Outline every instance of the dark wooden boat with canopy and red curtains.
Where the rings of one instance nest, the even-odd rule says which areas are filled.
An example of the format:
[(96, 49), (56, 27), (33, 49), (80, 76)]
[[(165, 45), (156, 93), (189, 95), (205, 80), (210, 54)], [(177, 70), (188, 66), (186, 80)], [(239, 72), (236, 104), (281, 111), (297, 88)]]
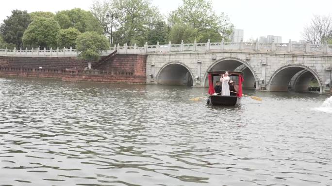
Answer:
[(243, 72), (234, 72), (228, 71), (228, 74), (231, 79), (238, 79), (239, 90), (237, 94), (231, 94), (231, 96), (221, 96), (214, 95), (214, 78), (220, 78), (222, 74), (225, 74), (227, 71), (208, 71), (208, 80), (209, 80), (209, 97), (207, 99), (207, 104), (210, 105), (224, 105), (224, 106), (235, 106), (240, 104), (242, 96), (242, 82), (243, 82)]

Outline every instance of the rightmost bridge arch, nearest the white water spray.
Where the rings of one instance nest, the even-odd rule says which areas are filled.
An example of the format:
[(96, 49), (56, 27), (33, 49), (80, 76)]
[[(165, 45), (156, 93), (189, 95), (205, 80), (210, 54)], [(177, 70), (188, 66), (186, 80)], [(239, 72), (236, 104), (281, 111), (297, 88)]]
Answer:
[[(295, 77), (296, 76), (296, 77)], [(293, 78), (294, 77), (294, 78)], [(320, 93), (323, 92), (323, 84), (318, 74), (308, 66), (302, 64), (288, 64), (274, 72), (267, 84), (268, 90), (286, 91), (291, 83), (292, 89), (296, 91), (306, 91), (310, 81), (315, 78), (319, 84)]]

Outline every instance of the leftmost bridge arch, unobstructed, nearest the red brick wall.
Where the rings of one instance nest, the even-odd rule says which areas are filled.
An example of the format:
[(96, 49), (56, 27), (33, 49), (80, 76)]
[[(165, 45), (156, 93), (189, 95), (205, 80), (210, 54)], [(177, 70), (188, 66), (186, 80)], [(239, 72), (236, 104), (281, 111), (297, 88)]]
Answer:
[(192, 85), (195, 86), (193, 72), (188, 66), (180, 62), (166, 63), (156, 75), (161, 85)]

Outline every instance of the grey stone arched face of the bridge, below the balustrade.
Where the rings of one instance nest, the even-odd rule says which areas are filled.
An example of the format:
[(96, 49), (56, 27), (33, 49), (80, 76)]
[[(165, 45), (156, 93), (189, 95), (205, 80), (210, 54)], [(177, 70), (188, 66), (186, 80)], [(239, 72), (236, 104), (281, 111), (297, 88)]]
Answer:
[(306, 91), (309, 83), (316, 80), (322, 93), (330, 91), (331, 66), (332, 56), (324, 54), (246, 51), (153, 53), (147, 57), (147, 83), (207, 86), (208, 71), (224, 70), (244, 72), (243, 86), (247, 89)]

